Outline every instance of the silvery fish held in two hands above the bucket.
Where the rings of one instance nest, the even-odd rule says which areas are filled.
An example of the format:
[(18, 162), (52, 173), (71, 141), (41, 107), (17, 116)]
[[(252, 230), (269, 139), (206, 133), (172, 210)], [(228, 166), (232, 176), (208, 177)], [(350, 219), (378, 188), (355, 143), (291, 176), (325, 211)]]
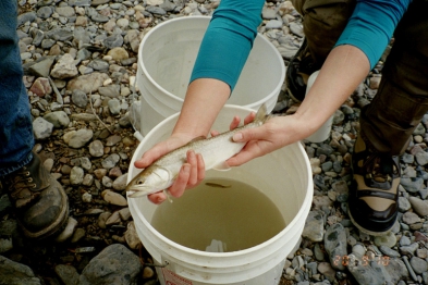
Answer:
[(127, 197), (144, 197), (161, 190), (169, 197), (167, 189), (173, 184), (181, 166), (186, 162), (188, 150), (194, 150), (195, 153), (201, 154), (206, 171), (210, 169), (219, 171), (230, 170), (225, 161), (239, 153), (246, 144), (233, 141), (233, 135), (242, 129), (261, 126), (270, 117), (271, 115), (267, 114), (266, 106), (262, 104), (253, 122), (217, 136), (193, 139), (188, 144), (163, 154), (149, 166), (143, 169), (126, 185)]

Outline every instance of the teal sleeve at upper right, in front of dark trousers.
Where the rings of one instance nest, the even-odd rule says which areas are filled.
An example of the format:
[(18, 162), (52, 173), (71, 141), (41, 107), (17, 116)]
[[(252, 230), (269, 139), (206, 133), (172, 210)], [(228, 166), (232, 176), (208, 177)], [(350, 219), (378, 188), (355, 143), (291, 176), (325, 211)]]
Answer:
[(359, 0), (335, 46), (352, 45), (368, 58), (372, 69), (382, 55), (412, 0)]

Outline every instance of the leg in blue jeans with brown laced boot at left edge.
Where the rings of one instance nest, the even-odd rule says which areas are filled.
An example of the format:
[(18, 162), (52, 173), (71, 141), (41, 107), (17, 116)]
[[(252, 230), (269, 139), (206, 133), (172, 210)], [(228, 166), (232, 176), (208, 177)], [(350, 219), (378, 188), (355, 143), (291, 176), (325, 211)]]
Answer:
[(62, 186), (44, 168), (34, 146), (28, 97), (16, 37), (16, 0), (0, 1), (0, 185), (24, 234), (44, 238), (68, 221)]

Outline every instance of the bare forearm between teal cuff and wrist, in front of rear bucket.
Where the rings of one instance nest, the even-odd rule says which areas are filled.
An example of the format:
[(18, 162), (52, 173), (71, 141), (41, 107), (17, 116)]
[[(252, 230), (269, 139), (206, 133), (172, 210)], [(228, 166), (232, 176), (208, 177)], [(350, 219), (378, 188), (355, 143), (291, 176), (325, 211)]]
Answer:
[(229, 85), (218, 79), (199, 78), (192, 82), (172, 134), (189, 138), (207, 136), (230, 92)]

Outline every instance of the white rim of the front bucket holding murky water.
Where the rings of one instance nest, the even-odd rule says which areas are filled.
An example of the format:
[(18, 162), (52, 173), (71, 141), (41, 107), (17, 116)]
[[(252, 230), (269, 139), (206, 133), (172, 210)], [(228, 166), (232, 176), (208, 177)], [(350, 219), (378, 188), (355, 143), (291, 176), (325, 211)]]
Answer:
[[(230, 108), (230, 109), (237, 109), (237, 110), (243, 110), (243, 111), (255, 111), (254, 109), (247, 108), (247, 107), (242, 107), (242, 106), (236, 106), (236, 104), (224, 104), (224, 108)], [(164, 124), (168, 124), (169, 122), (176, 120), (176, 117), (180, 115), (180, 112), (164, 119), (162, 121), (162, 123), (158, 124), (157, 126), (155, 126), (145, 137), (144, 139), (140, 141), (139, 146), (137, 147), (137, 149), (144, 145), (144, 142), (146, 140), (150, 139), (150, 136), (155, 133), (157, 133), (160, 128), (163, 128)], [(186, 253), (191, 253), (194, 256), (198, 256), (198, 257), (209, 257), (209, 258), (235, 258), (235, 257), (241, 257), (241, 256), (246, 256), (246, 255), (250, 255), (254, 251), (258, 251), (261, 248), (267, 247), (268, 245), (271, 245), (273, 243), (276, 243), (278, 239), (280, 239), (282, 236), (284, 236), (285, 234), (288, 234), (290, 231), (292, 231), (292, 228), (295, 227), (295, 224), (298, 222), (304, 222), (306, 221), (306, 216), (307, 213), (310, 210), (310, 206), (311, 206), (311, 199), (314, 196), (314, 182), (311, 179), (310, 173), (311, 173), (311, 169), (310, 169), (310, 163), (309, 163), (309, 159), (305, 153), (305, 150), (302, 146), (302, 144), (299, 141), (296, 141), (294, 144), (289, 145), (290, 147), (294, 147), (297, 148), (297, 150), (299, 151), (299, 153), (303, 156), (304, 162), (305, 162), (305, 168), (306, 168), (306, 173), (308, 175), (308, 184), (307, 184), (307, 189), (306, 189), (306, 195), (302, 201), (302, 205), (297, 211), (297, 213), (295, 214), (295, 216), (291, 220), (291, 222), (281, 231), (279, 232), (277, 235), (274, 235), (273, 237), (269, 238), (268, 240), (258, 244), (254, 247), (250, 248), (246, 248), (243, 250), (237, 250), (237, 251), (230, 251), (230, 252), (207, 252), (207, 251), (201, 251), (201, 250), (197, 250), (197, 249), (193, 249), (193, 248), (188, 248), (185, 246), (182, 246), (169, 238), (167, 238), (166, 236), (163, 236), (161, 233), (159, 233), (154, 226), (151, 226), (151, 224), (147, 221), (147, 219), (143, 215), (143, 213), (140, 211), (135, 211), (136, 214), (138, 215), (138, 219), (140, 222), (143, 222), (150, 231), (151, 233), (159, 238), (160, 240), (162, 240), (162, 243), (164, 243), (166, 245), (175, 248), (178, 250), (182, 250), (185, 251)], [(137, 151), (135, 150), (134, 153), (137, 153)], [(131, 165), (132, 168), (134, 166), (134, 162), (135, 162), (135, 156), (133, 156), (132, 160), (131, 160)], [(127, 176), (127, 183), (132, 179), (133, 177), (131, 175)], [(127, 196), (127, 195), (126, 195)], [(137, 198), (140, 199), (140, 198)], [(146, 198), (147, 199), (147, 198)], [(138, 209), (138, 207), (136, 207), (135, 198), (129, 198), (129, 206), (133, 207), (134, 209)], [(302, 218), (305, 218), (304, 220)], [(134, 219), (135, 220), (135, 219)]]

